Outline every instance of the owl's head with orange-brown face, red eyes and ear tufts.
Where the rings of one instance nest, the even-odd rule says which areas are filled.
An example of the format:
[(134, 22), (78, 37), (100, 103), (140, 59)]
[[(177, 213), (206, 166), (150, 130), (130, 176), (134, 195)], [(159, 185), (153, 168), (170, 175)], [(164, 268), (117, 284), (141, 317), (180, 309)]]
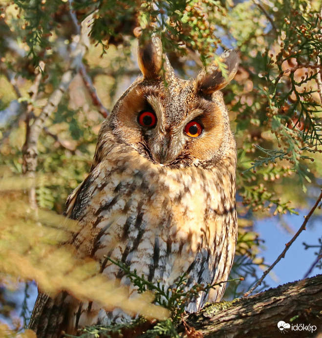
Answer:
[(229, 156), (232, 149), (236, 152), (220, 89), (235, 76), (238, 56), (229, 50), (220, 57), (228, 77), (213, 62), (195, 78), (182, 80), (175, 76), (158, 38), (139, 44), (143, 76), (116, 103), (99, 142), (104, 134), (112, 134), (114, 142), (170, 168), (209, 166)]

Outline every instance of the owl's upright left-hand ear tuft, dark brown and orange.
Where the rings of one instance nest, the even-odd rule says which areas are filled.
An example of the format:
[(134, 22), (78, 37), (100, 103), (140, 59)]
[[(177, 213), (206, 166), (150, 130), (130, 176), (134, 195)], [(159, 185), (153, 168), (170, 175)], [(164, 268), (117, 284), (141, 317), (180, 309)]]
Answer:
[(139, 68), (146, 79), (160, 78), (162, 69), (162, 43), (157, 37), (139, 41), (137, 61)]

